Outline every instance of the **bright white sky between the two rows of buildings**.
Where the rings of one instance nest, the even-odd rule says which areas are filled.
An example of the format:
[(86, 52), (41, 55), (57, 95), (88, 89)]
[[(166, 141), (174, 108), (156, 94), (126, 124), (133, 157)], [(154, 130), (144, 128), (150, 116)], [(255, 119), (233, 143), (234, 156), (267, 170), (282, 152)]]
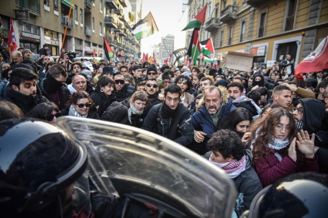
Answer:
[(152, 12), (159, 32), (141, 39), (141, 53), (153, 54), (153, 44), (158, 44), (161, 37), (168, 34), (175, 36), (174, 50), (185, 47), (186, 31), (181, 31), (187, 25), (186, 10), (182, 14), (182, 0), (143, 0), (141, 18)]

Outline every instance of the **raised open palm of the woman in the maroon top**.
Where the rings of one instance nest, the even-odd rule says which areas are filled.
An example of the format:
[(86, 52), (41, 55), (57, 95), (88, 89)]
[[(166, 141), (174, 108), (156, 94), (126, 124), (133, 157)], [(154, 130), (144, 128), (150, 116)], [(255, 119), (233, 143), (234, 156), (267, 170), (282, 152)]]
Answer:
[(310, 139), (308, 131), (301, 131), (300, 133), (297, 133), (298, 140), (297, 148), (302, 152), (305, 157), (307, 158), (313, 158), (314, 157), (314, 139), (315, 134), (312, 134), (312, 138)]

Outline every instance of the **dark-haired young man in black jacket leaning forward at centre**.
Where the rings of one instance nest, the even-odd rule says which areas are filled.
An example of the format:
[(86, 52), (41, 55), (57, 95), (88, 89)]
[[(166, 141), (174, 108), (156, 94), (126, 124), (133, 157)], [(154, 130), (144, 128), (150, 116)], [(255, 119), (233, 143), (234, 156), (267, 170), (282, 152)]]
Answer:
[(176, 84), (164, 90), (165, 101), (152, 107), (142, 129), (188, 146), (193, 139), (193, 127), (188, 109), (179, 103), (181, 88)]

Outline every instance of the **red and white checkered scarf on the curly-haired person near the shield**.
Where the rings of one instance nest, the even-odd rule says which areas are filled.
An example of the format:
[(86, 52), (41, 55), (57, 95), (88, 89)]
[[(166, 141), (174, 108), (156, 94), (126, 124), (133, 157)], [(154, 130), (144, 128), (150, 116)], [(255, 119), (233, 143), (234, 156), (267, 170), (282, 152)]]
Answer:
[(209, 158), (209, 161), (211, 163), (214, 163), (218, 167), (224, 169), (224, 171), (226, 171), (226, 173), (228, 174), (228, 176), (231, 179), (239, 176), (245, 170), (245, 167), (246, 167), (246, 156), (245, 155), (242, 156), (242, 158), (239, 161), (233, 159), (230, 162), (217, 163), (217, 162), (212, 161), (211, 157)]

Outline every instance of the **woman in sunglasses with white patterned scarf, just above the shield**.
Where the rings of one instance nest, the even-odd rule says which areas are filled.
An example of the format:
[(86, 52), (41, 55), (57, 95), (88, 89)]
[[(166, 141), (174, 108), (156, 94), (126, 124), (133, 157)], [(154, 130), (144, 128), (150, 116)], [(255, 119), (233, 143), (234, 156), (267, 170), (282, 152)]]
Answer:
[(97, 108), (86, 91), (74, 92), (67, 101), (66, 108), (60, 112), (62, 115), (99, 119)]

